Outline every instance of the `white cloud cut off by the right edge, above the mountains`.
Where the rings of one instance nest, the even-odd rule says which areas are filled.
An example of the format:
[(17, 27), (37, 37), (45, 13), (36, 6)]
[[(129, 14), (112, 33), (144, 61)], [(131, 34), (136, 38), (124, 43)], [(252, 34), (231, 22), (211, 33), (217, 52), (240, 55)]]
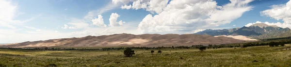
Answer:
[(263, 16), (272, 17), (276, 20), (282, 19), (284, 23), (291, 24), (291, 0), (286, 4), (273, 5), (271, 9), (260, 13)]

